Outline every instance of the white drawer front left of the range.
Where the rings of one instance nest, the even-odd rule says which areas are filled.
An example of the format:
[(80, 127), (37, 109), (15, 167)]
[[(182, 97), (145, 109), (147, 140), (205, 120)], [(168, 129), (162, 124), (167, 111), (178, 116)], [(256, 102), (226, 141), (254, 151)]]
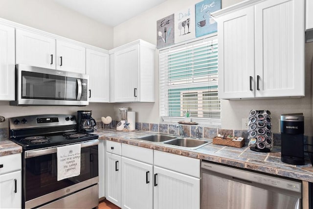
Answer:
[(0, 174), (21, 170), (22, 169), (21, 153), (1, 156), (0, 165), (1, 165)]

